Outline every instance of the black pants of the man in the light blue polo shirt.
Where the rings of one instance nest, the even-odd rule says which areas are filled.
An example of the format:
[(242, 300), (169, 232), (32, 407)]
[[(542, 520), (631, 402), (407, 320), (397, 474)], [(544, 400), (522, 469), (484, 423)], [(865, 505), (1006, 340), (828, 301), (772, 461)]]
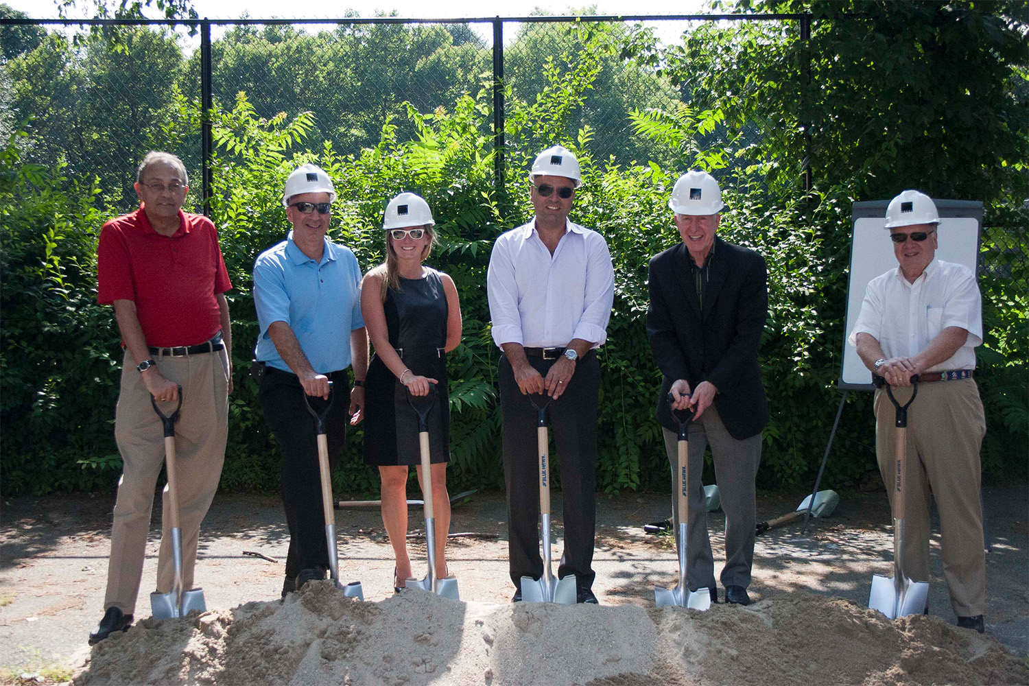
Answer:
[[(329, 471), (346, 441), (350, 382), (347, 371), (327, 374), (332, 382), (332, 405), (325, 419), (328, 434)], [(295, 374), (267, 367), (260, 382), (260, 404), (282, 453), (282, 505), (289, 527), (286, 576), (303, 569), (328, 568), (325, 515), (322, 512), (321, 475), (318, 470), (318, 439), (315, 418), (304, 403), (304, 387)], [(309, 398), (311, 406), (324, 411), (321, 398)]]

